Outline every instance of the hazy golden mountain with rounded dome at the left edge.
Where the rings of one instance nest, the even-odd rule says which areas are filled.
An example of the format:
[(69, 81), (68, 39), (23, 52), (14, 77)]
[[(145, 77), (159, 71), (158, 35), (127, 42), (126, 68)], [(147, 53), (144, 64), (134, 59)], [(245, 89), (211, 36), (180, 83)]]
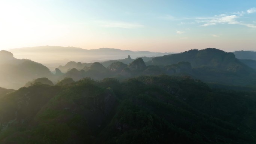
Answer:
[(0, 51), (0, 86), (18, 89), (39, 77), (52, 77), (49, 68), (29, 59), (16, 59), (11, 52)]

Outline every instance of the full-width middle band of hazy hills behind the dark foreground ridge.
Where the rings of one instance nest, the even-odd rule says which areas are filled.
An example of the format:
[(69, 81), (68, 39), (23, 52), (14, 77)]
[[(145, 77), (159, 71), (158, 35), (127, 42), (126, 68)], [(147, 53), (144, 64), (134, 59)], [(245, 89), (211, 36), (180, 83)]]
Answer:
[[(189, 50), (183, 53), (152, 58), (145, 62), (142, 58), (128, 58), (81, 63), (70, 61), (56, 68), (55, 75), (44, 65), (28, 59), (16, 59), (12, 53), (1, 51), (0, 82), (4, 88), (18, 89), (40, 77), (46, 77), (53, 83), (65, 77), (77, 81), (84, 77), (102, 80), (115, 77), (119, 80), (143, 75), (189, 75), (204, 82), (226, 85), (256, 85), (255, 63), (252, 60), (240, 60), (233, 53), (208, 48)], [(108, 67), (104, 67), (108, 65)]]

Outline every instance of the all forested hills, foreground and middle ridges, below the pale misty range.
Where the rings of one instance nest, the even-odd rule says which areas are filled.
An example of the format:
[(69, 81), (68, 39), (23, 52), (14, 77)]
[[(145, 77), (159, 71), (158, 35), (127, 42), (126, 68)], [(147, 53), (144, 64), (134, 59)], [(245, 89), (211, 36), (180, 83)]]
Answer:
[(23, 82), (0, 88), (1, 144), (256, 142), (256, 72), (234, 53), (71, 61), (55, 73), (0, 55), (0, 80)]

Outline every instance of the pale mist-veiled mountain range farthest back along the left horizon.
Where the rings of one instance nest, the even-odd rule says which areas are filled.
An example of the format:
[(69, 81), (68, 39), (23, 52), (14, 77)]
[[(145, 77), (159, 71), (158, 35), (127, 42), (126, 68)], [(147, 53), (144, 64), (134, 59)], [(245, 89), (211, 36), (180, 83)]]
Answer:
[(82, 49), (75, 47), (61, 47), (61, 46), (38, 46), (31, 48), (10, 49), (16, 58), (28, 58), (42, 64), (53, 63), (64, 64), (67, 59), (71, 61), (90, 62), (90, 61), (104, 61), (107, 59), (123, 59), (130, 55), (132, 58), (141, 56), (163, 56), (171, 53), (149, 52), (149, 51), (131, 51), (111, 48), (100, 49)]

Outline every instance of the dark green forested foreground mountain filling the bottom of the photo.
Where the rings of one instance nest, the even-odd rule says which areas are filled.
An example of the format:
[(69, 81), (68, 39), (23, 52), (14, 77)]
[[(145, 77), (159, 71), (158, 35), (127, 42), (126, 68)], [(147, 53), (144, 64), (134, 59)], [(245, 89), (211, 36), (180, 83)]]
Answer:
[(255, 94), (188, 76), (35, 83), (0, 99), (0, 143), (252, 144)]

